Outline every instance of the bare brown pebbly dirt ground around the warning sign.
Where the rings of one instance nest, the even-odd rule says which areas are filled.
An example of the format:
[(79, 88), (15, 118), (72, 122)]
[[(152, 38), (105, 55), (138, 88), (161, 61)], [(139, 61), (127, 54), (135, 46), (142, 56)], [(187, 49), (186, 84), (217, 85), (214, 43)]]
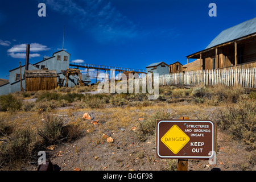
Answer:
[[(179, 105), (184, 105), (184, 103)], [(125, 110), (123, 109), (124, 112)], [(199, 111), (202, 110), (204, 108)], [(66, 110), (60, 109), (60, 111), (61, 114), (65, 114)], [(74, 111), (73, 115), (82, 117), (82, 114), (87, 111), (86, 109)], [(114, 110), (110, 111), (114, 112)], [(61, 171), (73, 171), (77, 168), (82, 171), (159, 171), (176, 169), (177, 159), (156, 158), (155, 136), (148, 136), (145, 141), (141, 141), (136, 132), (131, 130), (132, 127), (138, 126), (136, 123), (141, 116), (139, 112), (138, 109), (127, 111), (127, 113), (133, 113), (131, 116), (127, 114), (127, 125), (112, 126), (108, 125), (109, 119), (100, 119), (97, 125), (91, 124), (90, 129), (74, 142), (47, 147), (47, 156), (55, 164), (56, 170)], [(151, 113), (152, 111), (148, 110), (148, 112)], [(102, 110), (89, 110), (89, 114), (95, 120), (101, 118)], [(84, 122), (90, 124), (90, 121), (85, 120)], [(217, 164), (209, 165), (208, 160), (188, 160), (188, 170), (210, 171), (217, 168), (221, 171), (254, 171), (256, 169), (254, 165), (255, 150), (250, 151), (250, 148), (242, 141), (231, 139), (225, 131), (218, 130), (217, 133)], [(103, 134), (112, 137), (114, 142), (106, 142), (106, 139), (102, 138)], [(34, 164), (26, 169), (36, 170), (37, 168), (38, 166)]]

